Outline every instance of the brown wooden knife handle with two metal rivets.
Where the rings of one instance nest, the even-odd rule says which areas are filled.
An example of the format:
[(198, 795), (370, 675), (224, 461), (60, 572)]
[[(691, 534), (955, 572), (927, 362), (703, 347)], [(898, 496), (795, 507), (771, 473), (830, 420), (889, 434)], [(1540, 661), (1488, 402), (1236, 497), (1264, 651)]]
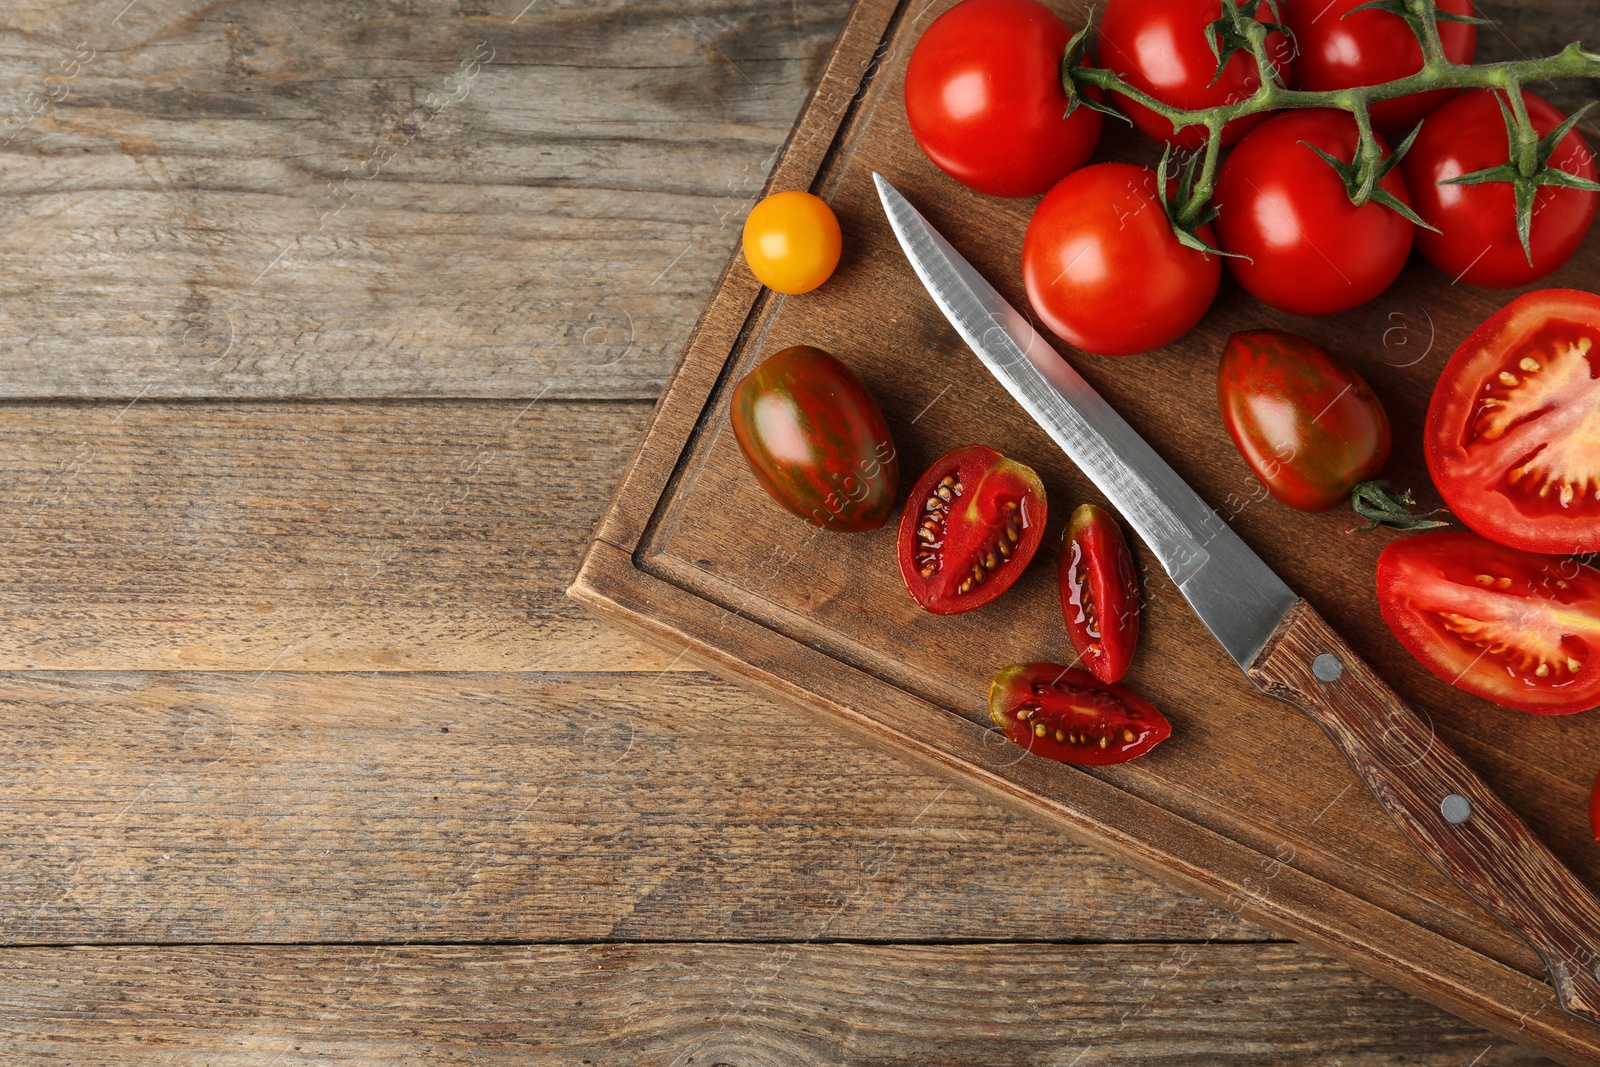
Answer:
[(1310, 605), (1245, 673), (1317, 720), (1422, 854), (1538, 950), (1562, 1006), (1600, 1022), (1600, 901)]

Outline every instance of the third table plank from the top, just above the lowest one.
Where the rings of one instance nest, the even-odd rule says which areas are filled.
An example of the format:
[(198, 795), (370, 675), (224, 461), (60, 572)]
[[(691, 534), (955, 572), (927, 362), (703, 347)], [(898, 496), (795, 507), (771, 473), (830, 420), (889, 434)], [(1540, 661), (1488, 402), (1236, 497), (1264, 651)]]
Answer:
[(698, 673), (0, 673), (0, 713), (11, 945), (1266, 936)]

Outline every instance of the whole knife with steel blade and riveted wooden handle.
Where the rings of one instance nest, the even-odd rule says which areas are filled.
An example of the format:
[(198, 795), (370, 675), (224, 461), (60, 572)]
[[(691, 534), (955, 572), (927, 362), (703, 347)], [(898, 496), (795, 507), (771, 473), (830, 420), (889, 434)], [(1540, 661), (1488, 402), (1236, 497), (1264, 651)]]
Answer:
[(1416, 848), (1533, 945), (1562, 1008), (1600, 1022), (1600, 901), (1022, 314), (872, 178), (933, 302), (1144, 537), (1245, 677), (1310, 715)]

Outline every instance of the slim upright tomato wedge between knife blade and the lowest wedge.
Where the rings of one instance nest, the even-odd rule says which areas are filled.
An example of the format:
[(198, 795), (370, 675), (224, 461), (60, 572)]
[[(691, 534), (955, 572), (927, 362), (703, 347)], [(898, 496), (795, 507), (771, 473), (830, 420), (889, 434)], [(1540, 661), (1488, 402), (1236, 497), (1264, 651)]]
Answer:
[(1120, 681), (1139, 643), (1139, 576), (1117, 520), (1082, 504), (1061, 542), (1061, 613), (1083, 665)]

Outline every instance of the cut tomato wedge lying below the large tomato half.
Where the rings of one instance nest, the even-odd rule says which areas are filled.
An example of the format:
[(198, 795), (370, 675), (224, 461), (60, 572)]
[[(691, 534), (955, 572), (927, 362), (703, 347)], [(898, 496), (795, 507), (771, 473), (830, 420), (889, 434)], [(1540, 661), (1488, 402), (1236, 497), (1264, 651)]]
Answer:
[(1467, 533), (1418, 534), (1378, 557), (1378, 606), (1435, 675), (1518, 712), (1600, 704), (1600, 571)]

